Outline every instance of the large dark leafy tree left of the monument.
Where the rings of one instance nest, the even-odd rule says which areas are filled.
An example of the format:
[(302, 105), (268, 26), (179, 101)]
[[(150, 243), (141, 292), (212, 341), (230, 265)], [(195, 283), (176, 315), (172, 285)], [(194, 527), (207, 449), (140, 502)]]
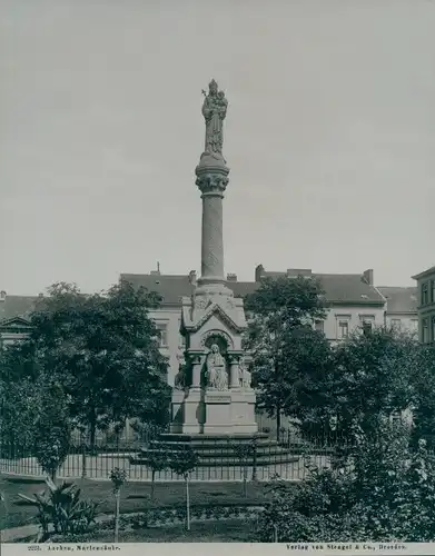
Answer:
[(62, 282), (49, 288), (31, 316), (32, 332), (20, 346), (22, 358), (27, 355), (21, 373), (59, 379), (70, 417), (89, 430), (92, 447), (97, 429), (123, 427), (129, 417), (168, 419), (167, 359), (149, 318), (159, 301), (128, 284), (85, 296)]

